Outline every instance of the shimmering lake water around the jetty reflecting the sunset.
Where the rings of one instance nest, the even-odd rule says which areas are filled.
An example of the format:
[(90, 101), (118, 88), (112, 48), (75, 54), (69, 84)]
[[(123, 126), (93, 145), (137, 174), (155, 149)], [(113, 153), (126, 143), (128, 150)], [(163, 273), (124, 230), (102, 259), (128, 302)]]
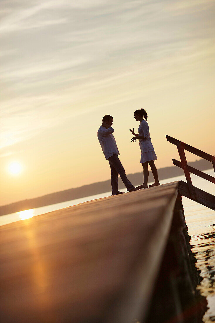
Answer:
[[(204, 171), (205, 173), (214, 177), (214, 170)], [(198, 176), (192, 175), (193, 185), (199, 187), (203, 191), (215, 195), (215, 186), (213, 183), (205, 181)], [(185, 176), (178, 176), (168, 178), (160, 181), (161, 184), (174, 182), (178, 180), (185, 180)], [(139, 183), (142, 184), (142, 183)], [(149, 183), (150, 184), (150, 183)], [(126, 192), (126, 189), (121, 190)], [(72, 201), (47, 205), (36, 209), (26, 210), (8, 215), (0, 216), (0, 225), (8, 224), (11, 222), (23, 220), (44, 214), (47, 212), (62, 209), (68, 206), (76, 205), (79, 203), (95, 200), (98, 198), (110, 196), (112, 193), (102, 193), (93, 196), (88, 196)], [(129, 194), (129, 193), (128, 193)], [(196, 266), (200, 270), (200, 275), (203, 280), (201, 281), (198, 289), (200, 293), (207, 297), (209, 309), (203, 317), (204, 323), (215, 321), (215, 211), (193, 202), (185, 197), (182, 198), (186, 223), (188, 226), (188, 233), (191, 237), (190, 244), (193, 246), (192, 251), (195, 253), (197, 259)]]

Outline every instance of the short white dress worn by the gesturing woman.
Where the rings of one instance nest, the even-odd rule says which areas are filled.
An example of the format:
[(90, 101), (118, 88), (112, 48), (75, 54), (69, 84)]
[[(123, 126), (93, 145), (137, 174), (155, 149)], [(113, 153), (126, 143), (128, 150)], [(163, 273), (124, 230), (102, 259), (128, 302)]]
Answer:
[(140, 163), (142, 164), (146, 161), (155, 161), (156, 159), (158, 159), (155, 154), (154, 147), (151, 143), (148, 123), (146, 120), (142, 120), (140, 122), (140, 125), (138, 128), (138, 134), (139, 136), (145, 137), (145, 139), (139, 139), (139, 146), (141, 150)]

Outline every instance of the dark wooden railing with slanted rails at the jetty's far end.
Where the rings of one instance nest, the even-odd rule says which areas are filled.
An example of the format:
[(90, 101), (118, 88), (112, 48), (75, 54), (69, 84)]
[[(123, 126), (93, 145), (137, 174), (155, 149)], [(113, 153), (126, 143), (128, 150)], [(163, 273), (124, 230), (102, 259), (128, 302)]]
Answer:
[(212, 183), (215, 184), (215, 178), (213, 176), (210, 176), (204, 172), (201, 172), (191, 166), (189, 166), (187, 164), (187, 160), (186, 160), (186, 156), (185, 156), (185, 150), (189, 151), (207, 161), (210, 161), (212, 163), (214, 172), (215, 172), (215, 157), (212, 155), (207, 154), (204, 151), (201, 151), (195, 147), (192, 147), (182, 141), (179, 141), (178, 139), (172, 138), (168, 135), (166, 135), (167, 141), (173, 143), (174, 145), (177, 146), (178, 148), (178, 152), (179, 152), (179, 156), (180, 156), (180, 160), (181, 161), (177, 161), (176, 159), (173, 159), (173, 164), (182, 168), (187, 180), (187, 184), (188, 184), (188, 188), (189, 188), (189, 193), (191, 195), (191, 198), (193, 200), (198, 200), (197, 196), (196, 196), (196, 192), (195, 192), (195, 187), (192, 184), (191, 178), (190, 178), (190, 173), (195, 174), (197, 176), (200, 176), (201, 178), (204, 178), (207, 181), (210, 181)]

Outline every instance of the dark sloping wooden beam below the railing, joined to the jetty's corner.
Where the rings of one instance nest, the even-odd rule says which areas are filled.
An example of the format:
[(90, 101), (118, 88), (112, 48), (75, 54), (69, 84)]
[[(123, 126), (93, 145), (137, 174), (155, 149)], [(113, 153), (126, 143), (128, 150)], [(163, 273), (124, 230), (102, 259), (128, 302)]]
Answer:
[(204, 192), (195, 186), (193, 186), (193, 188), (196, 194), (196, 199), (193, 199), (190, 195), (188, 184), (184, 181), (179, 181), (179, 192), (181, 195), (204, 206), (207, 206), (212, 210), (215, 210), (215, 196), (210, 193)]

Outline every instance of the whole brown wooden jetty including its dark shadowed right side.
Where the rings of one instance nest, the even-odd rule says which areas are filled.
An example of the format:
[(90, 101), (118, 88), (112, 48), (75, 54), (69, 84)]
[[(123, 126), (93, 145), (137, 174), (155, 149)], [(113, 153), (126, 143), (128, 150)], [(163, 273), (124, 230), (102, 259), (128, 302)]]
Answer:
[(173, 139), (188, 183), (0, 227), (1, 322), (200, 322), (206, 303), (196, 290), (181, 195), (212, 209), (215, 197), (193, 187), (189, 147)]

